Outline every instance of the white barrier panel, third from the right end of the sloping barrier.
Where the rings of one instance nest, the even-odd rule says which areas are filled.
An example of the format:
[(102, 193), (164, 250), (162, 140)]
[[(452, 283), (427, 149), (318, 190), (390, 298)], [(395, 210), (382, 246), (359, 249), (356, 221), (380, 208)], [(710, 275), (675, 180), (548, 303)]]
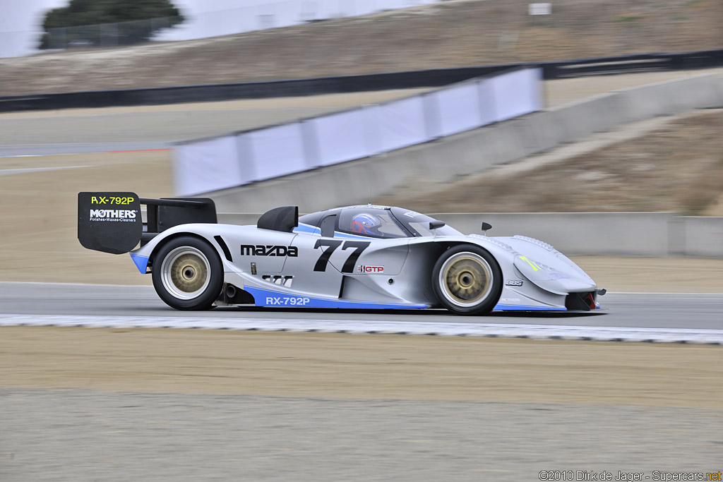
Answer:
[(427, 142), (424, 100), (421, 96), (364, 109), (372, 143), (372, 152), (386, 152)]

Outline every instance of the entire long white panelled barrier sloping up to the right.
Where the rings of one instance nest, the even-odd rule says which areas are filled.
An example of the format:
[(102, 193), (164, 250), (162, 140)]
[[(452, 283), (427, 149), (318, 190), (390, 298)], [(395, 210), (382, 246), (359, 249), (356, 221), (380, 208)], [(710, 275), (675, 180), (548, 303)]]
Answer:
[[(191, 195), (226, 189), (367, 158), (539, 111), (541, 74), (538, 68), (520, 69), (377, 106), (239, 134), (236, 161), (228, 176), (198, 172), (189, 158), (193, 144), (181, 145), (176, 192)], [(198, 155), (208, 159), (199, 160), (198, 165), (234, 158), (232, 144), (220, 142), (218, 155), (213, 155), (213, 148), (205, 147), (208, 142), (199, 143)], [(189, 172), (180, 173), (185, 169)]]

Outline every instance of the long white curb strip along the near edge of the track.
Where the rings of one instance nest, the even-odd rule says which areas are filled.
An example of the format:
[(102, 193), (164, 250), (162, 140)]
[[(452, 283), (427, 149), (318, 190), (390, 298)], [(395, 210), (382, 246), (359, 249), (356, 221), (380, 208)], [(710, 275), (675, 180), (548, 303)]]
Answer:
[(0, 314), (0, 327), (53, 326), (88, 328), (196, 328), (263, 332), (318, 332), (380, 335), (529, 338), (636, 343), (723, 345), (723, 330), (675, 328), (576, 327), (547, 324), (328, 321), (315, 319), (248, 319), (193, 317), (108, 317)]

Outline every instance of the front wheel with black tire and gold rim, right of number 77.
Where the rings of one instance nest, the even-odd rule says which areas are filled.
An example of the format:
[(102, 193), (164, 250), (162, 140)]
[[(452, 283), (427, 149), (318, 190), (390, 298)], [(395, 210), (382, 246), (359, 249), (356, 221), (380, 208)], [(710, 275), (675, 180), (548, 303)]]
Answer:
[(487, 314), (502, 294), (502, 270), (495, 257), (472, 244), (448, 249), (432, 270), (437, 299), (456, 314)]

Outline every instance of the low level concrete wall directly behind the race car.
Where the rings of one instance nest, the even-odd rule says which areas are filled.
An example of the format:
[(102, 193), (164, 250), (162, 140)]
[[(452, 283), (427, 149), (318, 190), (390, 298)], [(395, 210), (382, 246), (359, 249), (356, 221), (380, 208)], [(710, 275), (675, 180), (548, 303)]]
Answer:
[[(565, 254), (690, 256), (723, 258), (723, 218), (675, 212), (492, 212), (431, 214), (465, 234), (522, 234), (542, 239)], [(220, 213), (219, 223), (255, 224), (260, 215)]]

